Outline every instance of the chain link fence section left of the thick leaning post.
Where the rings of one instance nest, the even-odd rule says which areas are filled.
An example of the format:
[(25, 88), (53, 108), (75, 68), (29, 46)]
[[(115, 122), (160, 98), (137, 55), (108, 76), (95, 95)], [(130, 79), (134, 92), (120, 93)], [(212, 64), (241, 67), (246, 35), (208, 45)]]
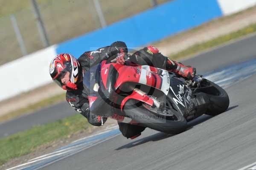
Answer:
[[(23, 10), (12, 14), (11, 16), (17, 21), (16, 24), (28, 54), (44, 48), (39, 37), (38, 28), (32, 11)], [(15, 28), (11, 21), (11, 16), (0, 18), (0, 65), (23, 56), (15, 34)]]

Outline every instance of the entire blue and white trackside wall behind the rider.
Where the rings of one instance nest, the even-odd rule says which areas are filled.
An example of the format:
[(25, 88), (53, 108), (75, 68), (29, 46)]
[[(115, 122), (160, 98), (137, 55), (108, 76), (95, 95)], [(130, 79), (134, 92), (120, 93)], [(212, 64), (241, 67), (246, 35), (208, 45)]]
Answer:
[(103, 29), (53, 45), (0, 66), (0, 100), (51, 82), (48, 66), (58, 53), (79, 57), (84, 51), (125, 41), (129, 48), (161, 40), (209, 20), (256, 4), (256, 0), (173, 0)]

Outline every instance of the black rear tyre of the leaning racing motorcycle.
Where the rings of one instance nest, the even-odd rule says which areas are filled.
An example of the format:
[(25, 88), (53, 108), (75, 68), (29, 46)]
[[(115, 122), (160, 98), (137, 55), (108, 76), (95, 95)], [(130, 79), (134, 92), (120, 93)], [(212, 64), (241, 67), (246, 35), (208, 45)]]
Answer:
[(215, 88), (210, 94), (207, 93), (210, 102), (207, 114), (215, 116), (227, 110), (230, 100), (227, 92), (223, 88), (209, 80), (207, 82)]

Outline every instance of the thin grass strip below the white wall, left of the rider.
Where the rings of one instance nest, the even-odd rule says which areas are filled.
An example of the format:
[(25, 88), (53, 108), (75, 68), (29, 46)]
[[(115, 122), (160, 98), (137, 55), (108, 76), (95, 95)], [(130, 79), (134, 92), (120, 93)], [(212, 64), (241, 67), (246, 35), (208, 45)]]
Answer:
[(56, 96), (52, 96), (50, 98), (47, 98), (47, 99), (41, 100), (39, 102), (36, 102), (32, 105), (28, 105), (25, 108), (20, 108), (20, 109), (17, 109), (15, 111), (6, 113), (3, 116), (0, 116), (0, 122), (8, 121), (8, 120), (14, 119), (18, 116), (22, 116), (26, 113), (35, 112), (35, 111), (37, 111), (41, 108), (45, 108), (49, 105), (57, 104), (58, 102), (64, 101), (65, 96), (66, 96), (66, 94), (59, 94), (59, 95), (56, 95)]

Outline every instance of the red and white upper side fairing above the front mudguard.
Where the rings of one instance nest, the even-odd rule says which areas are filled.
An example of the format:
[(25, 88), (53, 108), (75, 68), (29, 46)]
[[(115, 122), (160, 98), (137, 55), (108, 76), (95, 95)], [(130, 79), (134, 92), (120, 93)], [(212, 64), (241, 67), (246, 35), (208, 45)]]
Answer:
[[(115, 72), (113, 70), (116, 70), (118, 74), (116, 73), (115, 76), (113, 76)], [(158, 70), (162, 70), (162, 75), (157, 74)], [(159, 89), (166, 95), (169, 92), (170, 78), (168, 71), (160, 68), (154, 68), (148, 65), (134, 67), (116, 63), (106, 64), (106, 61), (102, 61), (100, 74), (102, 83), (105, 89), (108, 89), (108, 92), (111, 92), (109, 89), (111, 87), (108, 86), (109, 83), (112, 85), (112, 88), (114, 87), (112, 90), (115, 91), (125, 82), (136, 82), (148, 85)]]

